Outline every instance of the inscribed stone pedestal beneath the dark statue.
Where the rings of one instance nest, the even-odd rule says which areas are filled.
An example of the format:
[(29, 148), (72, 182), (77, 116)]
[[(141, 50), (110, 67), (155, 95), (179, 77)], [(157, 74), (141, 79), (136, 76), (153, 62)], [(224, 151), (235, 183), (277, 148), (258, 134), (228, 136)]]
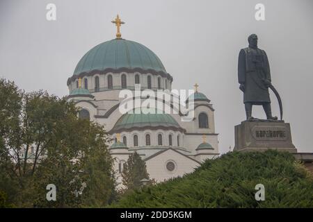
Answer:
[(268, 148), (297, 153), (289, 123), (252, 120), (235, 126), (234, 151), (265, 151)]

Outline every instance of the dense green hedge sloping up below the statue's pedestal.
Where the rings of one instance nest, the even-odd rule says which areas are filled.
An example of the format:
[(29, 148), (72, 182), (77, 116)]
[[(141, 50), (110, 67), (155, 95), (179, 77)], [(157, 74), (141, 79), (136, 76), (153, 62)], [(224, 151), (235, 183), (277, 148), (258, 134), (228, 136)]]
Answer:
[[(255, 185), (265, 200), (255, 200)], [(111, 207), (313, 207), (313, 178), (289, 153), (232, 152), (195, 172), (123, 196)]]

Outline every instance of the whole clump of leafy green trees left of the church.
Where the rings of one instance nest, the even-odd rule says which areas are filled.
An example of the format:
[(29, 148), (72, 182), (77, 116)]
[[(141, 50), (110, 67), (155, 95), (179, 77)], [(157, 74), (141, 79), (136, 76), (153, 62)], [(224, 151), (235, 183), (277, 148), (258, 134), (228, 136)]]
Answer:
[[(110, 203), (115, 180), (103, 126), (79, 119), (78, 109), (66, 98), (25, 93), (3, 79), (0, 109), (0, 177), (5, 179), (0, 189), (8, 200), (17, 207)], [(56, 201), (46, 200), (48, 184), (57, 187)], [(83, 184), (86, 189), (77, 195)], [(10, 186), (14, 192), (8, 192)], [(97, 192), (102, 195), (87, 195)]]

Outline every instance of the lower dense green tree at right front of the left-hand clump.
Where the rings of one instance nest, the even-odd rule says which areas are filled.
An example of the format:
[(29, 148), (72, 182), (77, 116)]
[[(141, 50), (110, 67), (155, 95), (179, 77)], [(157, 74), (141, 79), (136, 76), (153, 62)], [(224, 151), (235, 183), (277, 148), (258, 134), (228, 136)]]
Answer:
[[(48, 149), (48, 155), (35, 175), (38, 178), (36, 190), (41, 191), (35, 206), (104, 207), (111, 203), (115, 193), (113, 160), (103, 127), (79, 119), (74, 123), (64, 121), (61, 129), (64, 131), (54, 145), (58, 148)], [(72, 133), (66, 133), (68, 131)], [(49, 183), (56, 185), (57, 195), (55, 202), (47, 203), (45, 186)], [(83, 183), (86, 184), (84, 188)]]

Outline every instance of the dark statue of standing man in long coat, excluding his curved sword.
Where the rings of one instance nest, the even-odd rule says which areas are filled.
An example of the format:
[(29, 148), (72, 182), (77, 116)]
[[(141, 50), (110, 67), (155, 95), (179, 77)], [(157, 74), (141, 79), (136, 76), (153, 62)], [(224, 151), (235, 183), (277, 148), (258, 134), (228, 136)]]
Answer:
[(268, 87), (271, 86), (271, 71), (266, 53), (257, 48), (257, 35), (248, 37), (249, 46), (241, 49), (238, 59), (239, 89), (243, 92), (247, 119), (252, 117), (252, 105), (262, 105), (266, 119), (277, 120), (272, 116), (271, 99)]

